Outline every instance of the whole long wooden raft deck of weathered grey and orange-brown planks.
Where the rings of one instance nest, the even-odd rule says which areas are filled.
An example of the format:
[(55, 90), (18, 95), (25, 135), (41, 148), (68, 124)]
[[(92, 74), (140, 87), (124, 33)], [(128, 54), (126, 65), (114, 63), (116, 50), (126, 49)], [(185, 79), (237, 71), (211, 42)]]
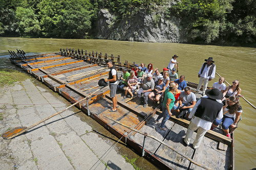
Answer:
[[(69, 54), (68, 51), (66, 52), (26, 56), (25, 60), (14, 60), (13, 58), (10, 60), (26, 69), (31, 75), (44, 82), (49, 88), (58, 92), (67, 100), (75, 103), (100, 89), (97, 86), (98, 81), (108, 78), (109, 73), (109, 69), (105, 67), (106, 58), (111, 58), (114, 63), (115, 58), (113, 55), (105, 55), (105, 60), (101, 60), (101, 57), (96, 60), (95, 56), (79, 57), (73, 53)], [(120, 64), (116, 61), (116, 63), (119, 64), (117, 68), (119, 69), (118, 77), (120, 77), (122, 74), (120, 65), (127, 68), (130, 65), (127, 62)], [(194, 91), (196, 84), (188, 83), (189, 85)], [(165, 124), (168, 130), (163, 131), (160, 129), (160, 123), (155, 123), (157, 114), (161, 113), (160, 105), (153, 106), (153, 103), (148, 100), (148, 106), (144, 108), (138, 98), (127, 102), (129, 98), (123, 99), (121, 92), (117, 93), (119, 105), (117, 112), (109, 112), (108, 110), (112, 105), (109, 92), (109, 86), (101, 88), (88, 99), (88, 104), (84, 100), (76, 106), (118, 138), (121, 138), (122, 141), (130, 144), (138, 153), (142, 152), (144, 135), (114, 123), (105, 116), (143, 133), (153, 135), (190, 159), (194, 159), (196, 162), (212, 169), (233, 169), (233, 140), (222, 135), (223, 131), (220, 128), (216, 128), (215, 131), (209, 130), (197, 150), (193, 149), (191, 143), (188, 147), (184, 147), (182, 139), (187, 131), (188, 120), (172, 116)], [(201, 98), (199, 93), (196, 93), (196, 96), (197, 100)], [(196, 132), (194, 132), (191, 139), (192, 143), (195, 136)], [(144, 157), (160, 168), (201, 169), (198, 165), (191, 163), (180, 154), (152, 138), (146, 137), (144, 144)]]

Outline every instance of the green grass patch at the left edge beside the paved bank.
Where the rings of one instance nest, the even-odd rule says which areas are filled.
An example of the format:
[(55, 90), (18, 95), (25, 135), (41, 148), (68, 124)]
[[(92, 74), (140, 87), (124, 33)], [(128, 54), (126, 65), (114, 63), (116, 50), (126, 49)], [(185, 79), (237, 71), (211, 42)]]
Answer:
[(24, 81), (27, 78), (29, 78), (28, 75), (23, 72), (0, 68), (0, 87), (3, 87), (4, 85), (11, 85), (17, 81)]

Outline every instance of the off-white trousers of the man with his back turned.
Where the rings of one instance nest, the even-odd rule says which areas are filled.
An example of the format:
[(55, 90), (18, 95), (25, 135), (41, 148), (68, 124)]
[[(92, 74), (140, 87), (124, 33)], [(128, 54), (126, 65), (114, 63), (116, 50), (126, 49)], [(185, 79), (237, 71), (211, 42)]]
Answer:
[(187, 128), (187, 133), (186, 133), (186, 137), (185, 137), (185, 142), (187, 144), (190, 143), (190, 139), (193, 135), (193, 132), (197, 130), (197, 136), (196, 136), (196, 139), (193, 143), (193, 148), (194, 149), (197, 149), (199, 146), (200, 146), (200, 143), (204, 137), (204, 134), (207, 132), (207, 130), (201, 128), (201, 127), (198, 127), (196, 124), (190, 122), (188, 128)]

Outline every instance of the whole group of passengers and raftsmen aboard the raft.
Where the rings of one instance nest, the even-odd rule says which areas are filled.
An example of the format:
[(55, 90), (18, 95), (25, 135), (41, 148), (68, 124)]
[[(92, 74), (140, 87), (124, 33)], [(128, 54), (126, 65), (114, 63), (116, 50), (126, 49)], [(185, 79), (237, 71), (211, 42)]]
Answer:
[[(144, 63), (135, 67), (130, 71), (122, 68), (123, 77), (120, 78), (121, 82), (118, 83), (116, 69), (110, 60), (108, 67), (111, 69), (109, 78), (105, 79), (110, 82), (110, 94), (113, 101), (113, 109), (109, 111), (115, 112), (117, 105), (116, 91), (118, 89), (125, 89), (126, 98), (127, 93), (134, 96), (134, 90), (138, 88), (137, 95), (143, 103), (143, 107), (147, 106), (148, 99), (157, 104), (162, 98), (162, 113), (156, 119), (156, 123), (163, 117), (160, 129), (167, 130), (164, 127), (166, 120), (174, 113), (178, 117), (191, 120), (186, 137), (183, 144), (186, 146), (190, 142), (190, 138), (195, 130), (197, 136), (193, 143), (194, 149), (198, 148), (204, 134), (208, 130), (214, 130), (219, 124), (222, 123), (222, 129), (227, 137), (230, 137), (229, 127), (235, 128), (242, 113), (242, 108), (239, 104), (238, 97), (242, 96), (239, 81), (234, 80), (231, 86), (226, 87), (224, 84), (225, 79), (221, 77), (218, 82), (215, 82), (211, 89), (207, 89), (209, 81), (215, 78), (216, 65), (212, 57), (205, 59), (201, 69), (198, 72), (199, 83), (197, 92), (202, 89), (202, 98), (197, 101), (196, 95), (187, 86), (185, 76), (182, 75), (178, 78), (176, 68), (178, 69), (177, 55), (174, 55), (170, 60), (168, 66), (163, 68), (160, 73), (158, 68), (154, 69), (153, 64), (148, 64), (147, 67)], [(154, 79), (153, 79), (154, 78)], [(115, 87), (114, 87), (115, 86)]]

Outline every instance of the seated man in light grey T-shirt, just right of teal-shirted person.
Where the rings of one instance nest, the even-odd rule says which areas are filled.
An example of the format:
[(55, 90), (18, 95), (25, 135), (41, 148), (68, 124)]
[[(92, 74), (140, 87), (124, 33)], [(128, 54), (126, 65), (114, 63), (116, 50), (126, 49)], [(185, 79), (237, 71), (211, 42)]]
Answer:
[(177, 105), (174, 105), (174, 109), (177, 110), (179, 113), (180, 109), (188, 109), (186, 119), (188, 118), (188, 115), (190, 111), (193, 109), (193, 107), (196, 105), (197, 98), (196, 95), (191, 92), (189, 87), (185, 87), (184, 91), (180, 93), (180, 105), (177, 107)]

